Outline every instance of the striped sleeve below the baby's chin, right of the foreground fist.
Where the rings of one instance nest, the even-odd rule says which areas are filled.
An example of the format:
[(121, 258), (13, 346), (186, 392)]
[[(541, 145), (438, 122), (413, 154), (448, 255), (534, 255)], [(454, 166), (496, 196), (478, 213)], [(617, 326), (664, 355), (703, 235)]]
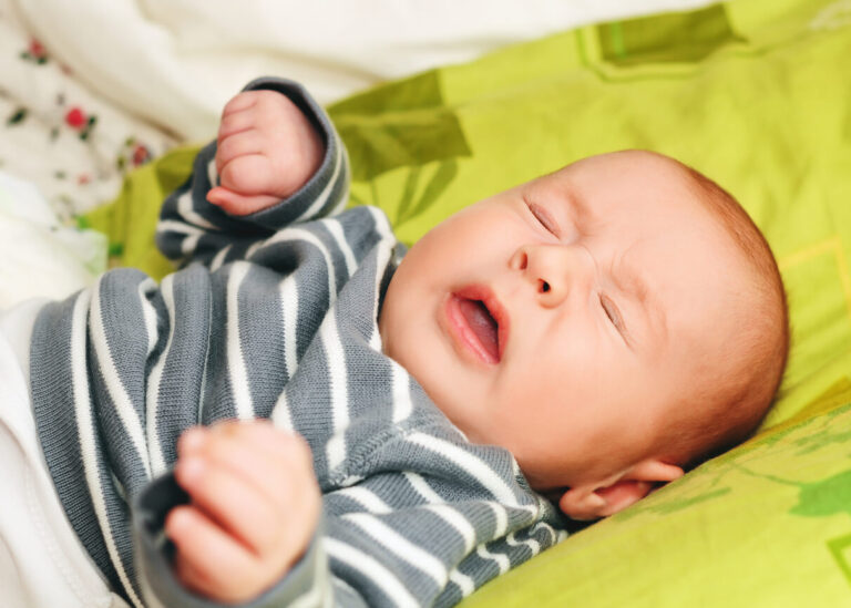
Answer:
[[(564, 538), (507, 452), (426, 430), (371, 458), (383, 473), (325, 496), (329, 570), (352, 605), (453, 606)], [(393, 471), (400, 458), (411, 468)]]

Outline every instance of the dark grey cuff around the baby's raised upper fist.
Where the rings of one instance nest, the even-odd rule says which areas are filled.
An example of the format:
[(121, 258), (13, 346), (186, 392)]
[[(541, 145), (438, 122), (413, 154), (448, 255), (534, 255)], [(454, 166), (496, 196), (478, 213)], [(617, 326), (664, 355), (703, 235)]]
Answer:
[(265, 76), (249, 82), (244, 91), (276, 91), (286, 95), (314, 125), (322, 144), (325, 157), (316, 173), (289, 197), (256, 214), (240, 219), (263, 226), (284, 226), (300, 219), (315, 219), (330, 213), (340, 200), (348, 184), (348, 158), (328, 114), (299, 83)]

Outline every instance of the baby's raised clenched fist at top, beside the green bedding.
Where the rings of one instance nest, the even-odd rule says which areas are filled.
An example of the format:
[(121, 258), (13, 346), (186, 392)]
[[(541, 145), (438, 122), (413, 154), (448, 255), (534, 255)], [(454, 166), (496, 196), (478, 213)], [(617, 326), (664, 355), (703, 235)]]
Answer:
[(222, 112), (216, 150), (221, 185), (207, 200), (233, 215), (270, 207), (316, 173), (325, 150), (310, 121), (281, 93), (239, 93)]

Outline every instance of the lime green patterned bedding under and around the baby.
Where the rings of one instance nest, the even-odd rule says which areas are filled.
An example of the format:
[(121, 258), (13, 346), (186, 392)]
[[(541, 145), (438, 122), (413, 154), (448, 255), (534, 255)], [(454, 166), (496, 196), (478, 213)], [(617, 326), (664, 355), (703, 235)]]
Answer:
[[(760, 434), (489, 584), (465, 606), (851, 605), (851, 2), (738, 0), (592, 25), (330, 107), (352, 204), (413, 241), (589, 154), (642, 147), (718, 181), (780, 262), (792, 351)], [(213, 134), (211, 134), (212, 136)], [(83, 220), (155, 276), (195, 148)]]

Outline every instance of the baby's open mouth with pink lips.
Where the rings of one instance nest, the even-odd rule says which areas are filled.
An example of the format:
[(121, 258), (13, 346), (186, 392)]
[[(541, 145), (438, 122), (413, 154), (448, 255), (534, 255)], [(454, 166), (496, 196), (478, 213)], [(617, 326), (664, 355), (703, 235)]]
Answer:
[(499, 363), (507, 337), (507, 323), (496, 299), (482, 288), (451, 295), (448, 302), (451, 324), (463, 346), (485, 363)]

